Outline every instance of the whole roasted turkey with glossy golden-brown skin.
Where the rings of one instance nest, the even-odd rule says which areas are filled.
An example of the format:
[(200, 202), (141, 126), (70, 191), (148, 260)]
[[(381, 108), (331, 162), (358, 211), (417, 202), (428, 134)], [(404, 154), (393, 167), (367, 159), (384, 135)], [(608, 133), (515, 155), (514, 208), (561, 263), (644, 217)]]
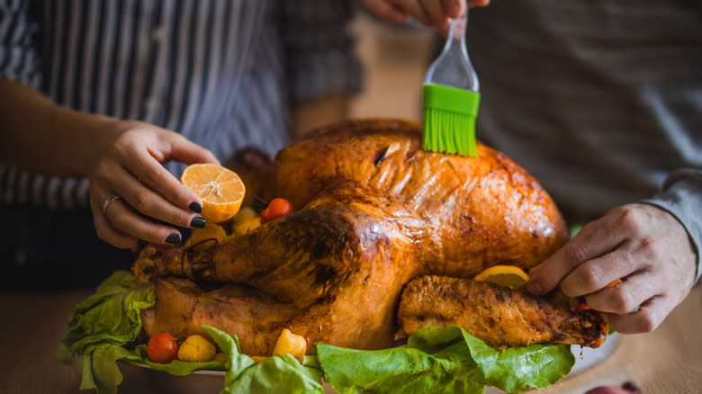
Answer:
[[(311, 343), (382, 348), (392, 345), (398, 323), (413, 332), (415, 320), (451, 301), (442, 286), (426, 286), (434, 295), (411, 301), (417, 309), (398, 322), (412, 279), (469, 278), (495, 264), (527, 269), (563, 245), (567, 228), (554, 202), (509, 157), (480, 144), (479, 157), (426, 152), (420, 138), (416, 122), (351, 121), (282, 149), (275, 168), (262, 173), (274, 176), (275, 187), (254, 193), (292, 201), (293, 214), (203, 251), (147, 248), (139, 256), (135, 272), (156, 283), (157, 304), (142, 313), (148, 336), (183, 337), (210, 324), (237, 334), (245, 353), (270, 354), (289, 328)], [(416, 286), (405, 293), (403, 303), (424, 294)], [(470, 304), (503, 292), (488, 286), (479, 300), (473, 291), (459, 294)], [(533, 312), (538, 318), (527, 326), (552, 322), (553, 330), (505, 330), (483, 338), (491, 345), (594, 346), (593, 336), (606, 330), (579, 312), (568, 316), (581, 324), (557, 324), (563, 310), (537, 311), (545, 301), (515, 297), (524, 301), (497, 313)], [(437, 325), (470, 331), (471, 314), (481, 309), (464, 310)]]

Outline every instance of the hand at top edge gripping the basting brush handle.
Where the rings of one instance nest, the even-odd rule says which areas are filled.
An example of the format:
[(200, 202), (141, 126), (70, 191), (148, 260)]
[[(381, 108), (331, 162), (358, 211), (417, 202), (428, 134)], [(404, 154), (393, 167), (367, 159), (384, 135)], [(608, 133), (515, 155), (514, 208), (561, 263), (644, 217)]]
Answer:
[[(369, 11), (388, 22), (405, 22), (408, 16), (427, 27), (447, 31), (448, 19), (465, 12), (465, 0), (361, 0)], [(469, 5), (485, 6), (490, 0), (469, 0)]]

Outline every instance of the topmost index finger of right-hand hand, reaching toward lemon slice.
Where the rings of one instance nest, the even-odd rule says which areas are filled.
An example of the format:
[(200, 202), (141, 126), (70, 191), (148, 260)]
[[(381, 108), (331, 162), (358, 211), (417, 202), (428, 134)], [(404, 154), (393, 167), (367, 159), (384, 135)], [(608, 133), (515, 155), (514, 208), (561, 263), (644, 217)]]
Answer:
[(605, 255), (621, 244), (624, 236), (622, 232), (614, 230), (613, 221), (612, 215), (605, 215), (590, 222), (544, 263), (532, 268), (527, 290), (535, 295), (544, 295), (554, 290), (578, 265)]

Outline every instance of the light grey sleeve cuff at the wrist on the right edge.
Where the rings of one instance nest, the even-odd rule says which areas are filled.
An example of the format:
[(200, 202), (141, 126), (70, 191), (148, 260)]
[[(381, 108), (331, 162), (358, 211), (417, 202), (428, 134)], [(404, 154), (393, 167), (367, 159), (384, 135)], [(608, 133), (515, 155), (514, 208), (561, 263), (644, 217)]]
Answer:
[(698, 255), (698, 272), (702, 273), (702, 170), (685, 169), (672, 173), (662, 192), (644, 202), (669, 211), (688, 230)]

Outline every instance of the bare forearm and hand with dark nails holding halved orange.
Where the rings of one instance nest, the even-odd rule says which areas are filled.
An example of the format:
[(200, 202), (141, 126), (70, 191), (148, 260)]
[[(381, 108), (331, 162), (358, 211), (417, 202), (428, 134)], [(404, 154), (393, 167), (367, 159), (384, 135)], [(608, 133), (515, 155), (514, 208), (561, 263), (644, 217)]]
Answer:
[[(163, 244), (177, 233), (132, 208), (177, 226), (199, 225), (193, 222), (199, 215), (189, 207), (202, 201), (161, 164), (216, 162), (209, 151), (147, 123), (70, 110), (16, 81), (0, 79), (0, 92), (5, 164), (45, 175), (88, 177), (95, 230), (103, 240), (133, 247), (139, 239)], [(123, 201), (103, 212), (103, 201), (112, 194)]]

